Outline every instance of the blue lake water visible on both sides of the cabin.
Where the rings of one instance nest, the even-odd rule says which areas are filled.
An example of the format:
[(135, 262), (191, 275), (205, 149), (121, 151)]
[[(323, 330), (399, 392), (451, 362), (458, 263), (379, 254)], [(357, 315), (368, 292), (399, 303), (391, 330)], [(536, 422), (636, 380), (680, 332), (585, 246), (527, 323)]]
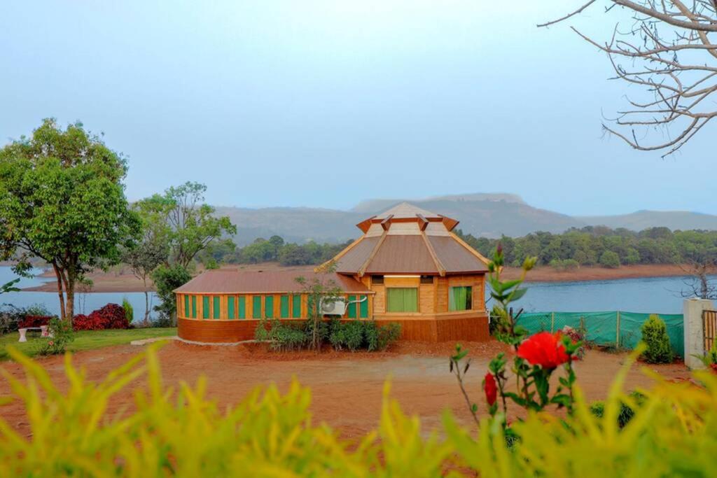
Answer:
[[(40, 270), (35, 271), (39, 274)], [(0, 267), (0, 284), (14, 279), (10, 267)], [(22, 279), (19, 287), (40, 285), (43, 279)], [(625, 312), (655, 312), (663, 314), (682, 313), (683, 298), (680, 290), (685, 288), (684, 277), (649, 277), (643, 279), (619, 279), (589, 282), (530, 282), (528, 293), (516, 302), (526, 312), (599, 312), (622, 310)], [(108, 302), (121, 304), (127, 298), (134, 307), (136, 317), (144, 312), (142, 292), (90, 292), (77, 294), (75, 311), (90, 313)], [(153, 302), (157, 299), (152, 294)], [(486, 297), (488, 293), (486, 293)], [(60, 312), (56, 292), (11, 292), (0, 295), (0, 303), (18, 307), (41, 303), (53, 313)], [(488, 304), (490, 307), (490, 303)]]

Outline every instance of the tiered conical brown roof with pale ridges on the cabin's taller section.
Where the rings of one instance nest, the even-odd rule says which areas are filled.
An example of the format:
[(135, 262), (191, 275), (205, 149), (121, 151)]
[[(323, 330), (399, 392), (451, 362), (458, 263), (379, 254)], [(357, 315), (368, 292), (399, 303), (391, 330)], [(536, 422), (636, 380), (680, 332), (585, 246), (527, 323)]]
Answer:
[(401, 203), (356, 226), (364, 235), (333, 258), (336, 272), (447, 275), (482, 273), (488, 259), (452, 233), (458, 221)]

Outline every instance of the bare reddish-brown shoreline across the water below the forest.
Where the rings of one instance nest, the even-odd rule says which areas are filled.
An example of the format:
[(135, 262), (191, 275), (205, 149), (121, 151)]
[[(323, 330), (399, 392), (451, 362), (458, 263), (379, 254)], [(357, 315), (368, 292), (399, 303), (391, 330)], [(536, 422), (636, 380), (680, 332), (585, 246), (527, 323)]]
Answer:
[[(310, 266), (309, 266), (310, 267)], [(242, 271), (272, 271), (272, 270), (297, 270), (306, 269), (306, 267), (282, 267), (275, 262), (267, 262), (262, 264), (237, 264), (225, 265), (222, 269), (240, 269)], [(516, 279), (520, 277), (521, 269), (519, 267), (505, 267), (505, 279)], [(648, 277), (685, 277), (689, 274), (685, 272), (683, 266), (678, 264), (637, 264), (632, 266), (622, 266), (618, 269), (607, 269), (604, 267), (579, 267), (573, 270), (559, 271), (548, 266), (536, 267), (528, 272), (526, 282), (591, 282), (601, 280), (619, 280), (619, 279), (642, 279)], [(25, 287), (22, 289), (27, 292), (57, 292), (54, 283), (54, 273), (46, 271), (39, 276), (39, 279), (45, 280), (44, 284), (34, 287)], [(154, 288), (148, 281), (148, 287), (144, 287), (142, 281), (133, 276), (126, 269), (116, 269), (110, 272), (92, 272), (87, 277), (92, 280), (92, 289), (83, 291), (77, 290), (78, 293), (94, 293), (94, 292), (153, 292)]]

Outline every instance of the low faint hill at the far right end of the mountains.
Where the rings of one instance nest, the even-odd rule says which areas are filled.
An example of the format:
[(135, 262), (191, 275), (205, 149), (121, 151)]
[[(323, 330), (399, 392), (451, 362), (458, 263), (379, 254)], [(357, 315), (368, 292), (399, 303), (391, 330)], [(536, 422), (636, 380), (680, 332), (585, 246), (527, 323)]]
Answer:
[(648, 227), (668, 227), (673, 231), (690, 229), (717, 230), (717, 216), (690, 211), (637, 211), (617, 216), (584, 216), (577, 218), (591, 226), (625, 227), (641, 231)]

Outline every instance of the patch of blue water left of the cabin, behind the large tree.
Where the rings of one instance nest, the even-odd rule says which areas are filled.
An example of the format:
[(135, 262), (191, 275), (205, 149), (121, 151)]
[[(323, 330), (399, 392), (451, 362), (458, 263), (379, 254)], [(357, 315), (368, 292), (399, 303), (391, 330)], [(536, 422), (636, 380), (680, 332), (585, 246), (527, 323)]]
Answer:
[[(42, 270), (34, 271), (35, 274), (41, 274)], [(0, 285), (15, 279), (17, 276), (12, 272), (10, 267), (0, 266)], [(52, 280), (47, 277), (21, 279), (16, 287), (34, 287), (42, 285), (42, 282)], [(99, 309), (103, 305), (110, 302), (122, 304), (124, 298), (129, 300), (134, 307), (135, 317), (141, 319), (144, 317), (144, 293), (143, 292), (89, 292), (87, 294), (75, 294), (75, 313), (89, 314), (92, 310)], [(150, 308), (158, 303), (158, 299), (154, 294), (150, 295)], [(9, 292), (0, 295), (0, 304), (12, 304), (16, 307), (27, 307), (32, 304), (42, 304), (49, 310), (51, 314), (60, 315), (60, 300), (57, 298), (57, 292)], [(155, 314), (152, 314), (154, 316)]]

